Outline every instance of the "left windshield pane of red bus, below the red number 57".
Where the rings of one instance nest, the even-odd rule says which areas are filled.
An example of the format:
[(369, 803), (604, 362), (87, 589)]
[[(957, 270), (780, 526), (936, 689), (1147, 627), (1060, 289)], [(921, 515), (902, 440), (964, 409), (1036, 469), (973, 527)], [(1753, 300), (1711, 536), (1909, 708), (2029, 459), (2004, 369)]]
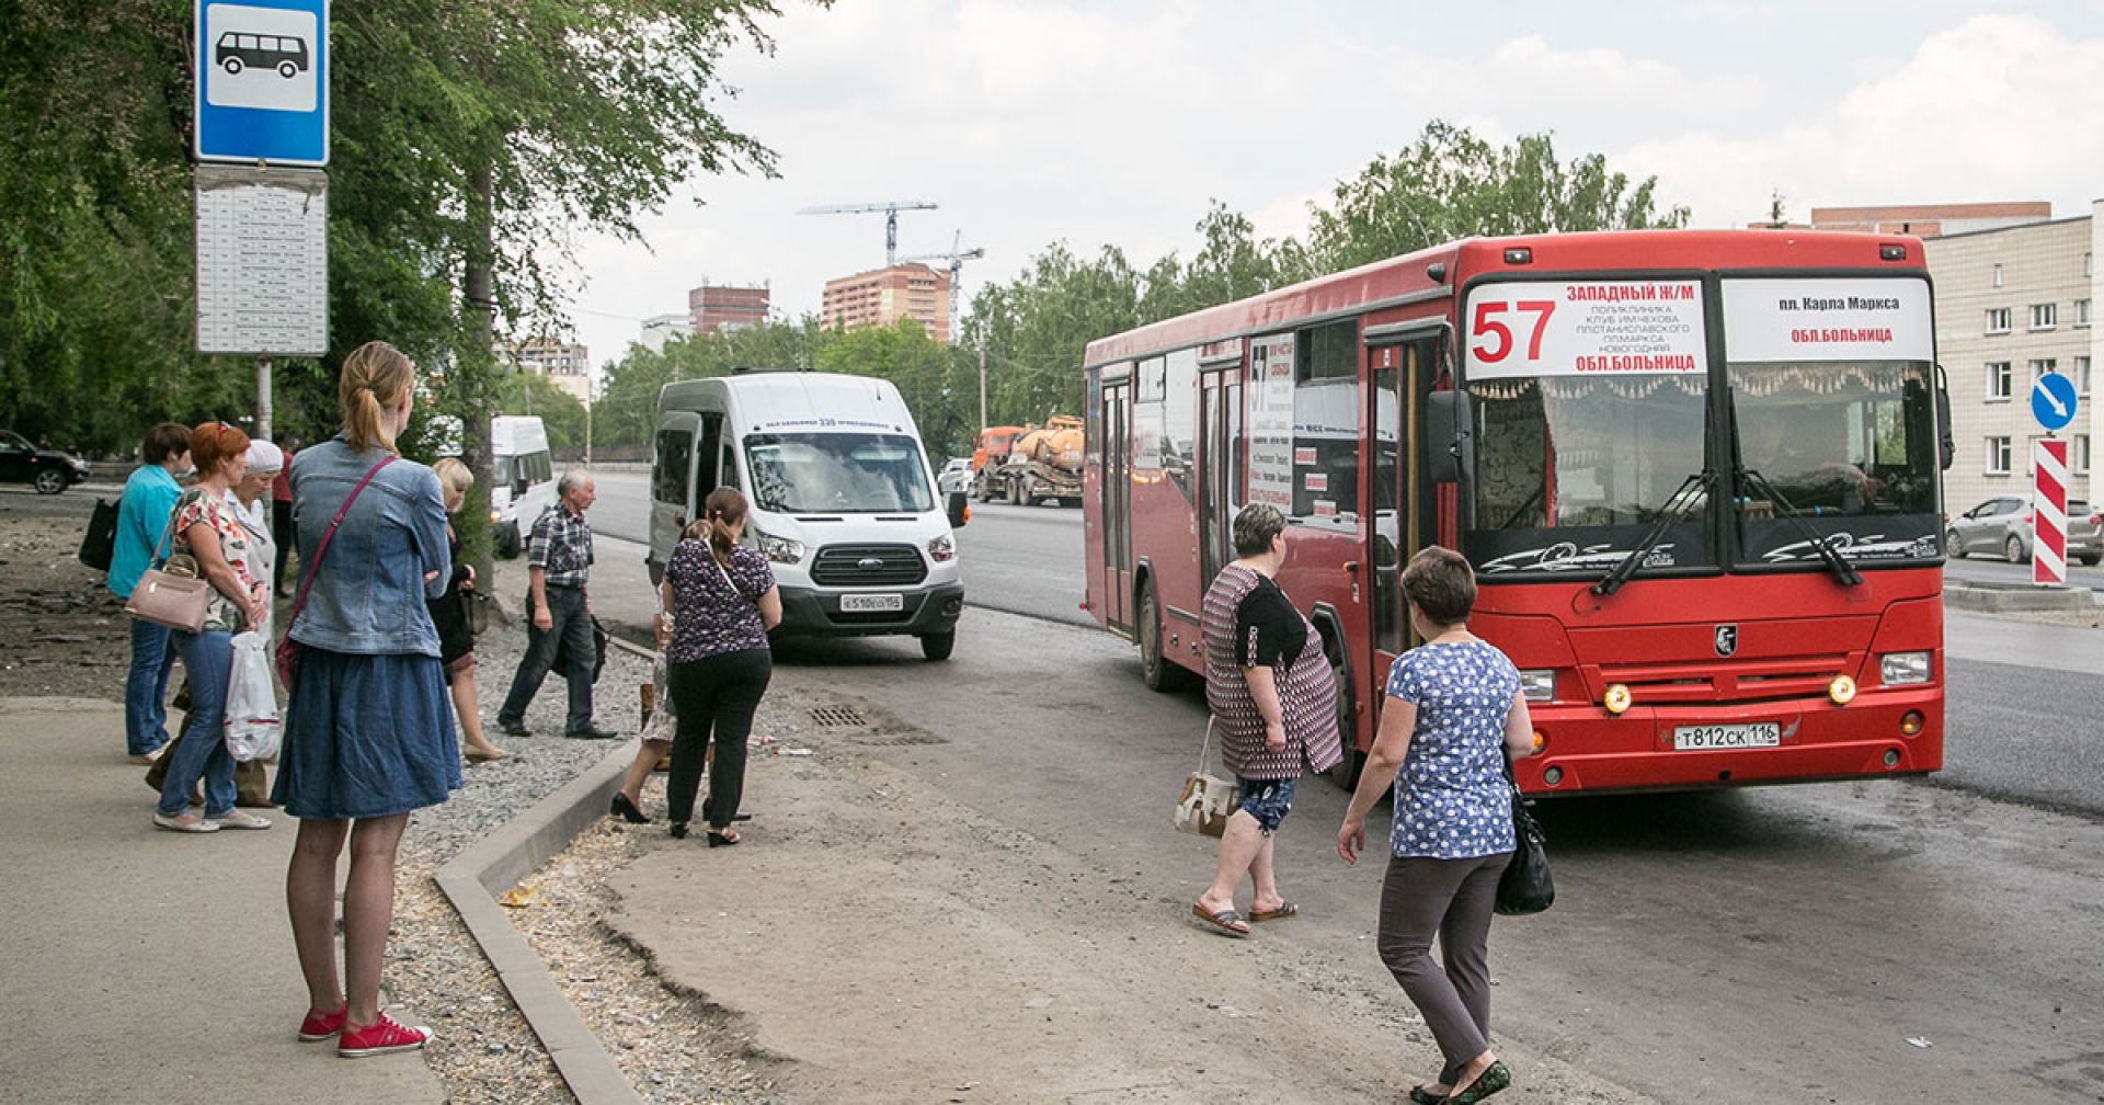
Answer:
[[(1485, 577), (1599, 577), (1704, 467), (1700, 373), (1515, 377), (1469, 391), (1477, 461), (1464, 551)], [(1681, 505), (1637, 572), (1717, 562), (1708, 497)]]

